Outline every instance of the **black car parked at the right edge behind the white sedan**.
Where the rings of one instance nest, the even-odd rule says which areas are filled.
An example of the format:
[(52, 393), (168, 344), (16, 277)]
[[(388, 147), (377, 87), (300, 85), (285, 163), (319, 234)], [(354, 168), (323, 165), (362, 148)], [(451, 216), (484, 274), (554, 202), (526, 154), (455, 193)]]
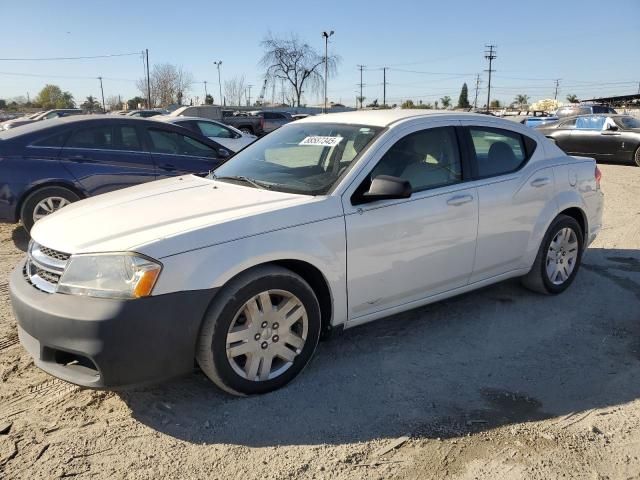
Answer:
[(640, 166), (640, 120), (629, 115), (582, 115), (537, 130), (570, 155)]

